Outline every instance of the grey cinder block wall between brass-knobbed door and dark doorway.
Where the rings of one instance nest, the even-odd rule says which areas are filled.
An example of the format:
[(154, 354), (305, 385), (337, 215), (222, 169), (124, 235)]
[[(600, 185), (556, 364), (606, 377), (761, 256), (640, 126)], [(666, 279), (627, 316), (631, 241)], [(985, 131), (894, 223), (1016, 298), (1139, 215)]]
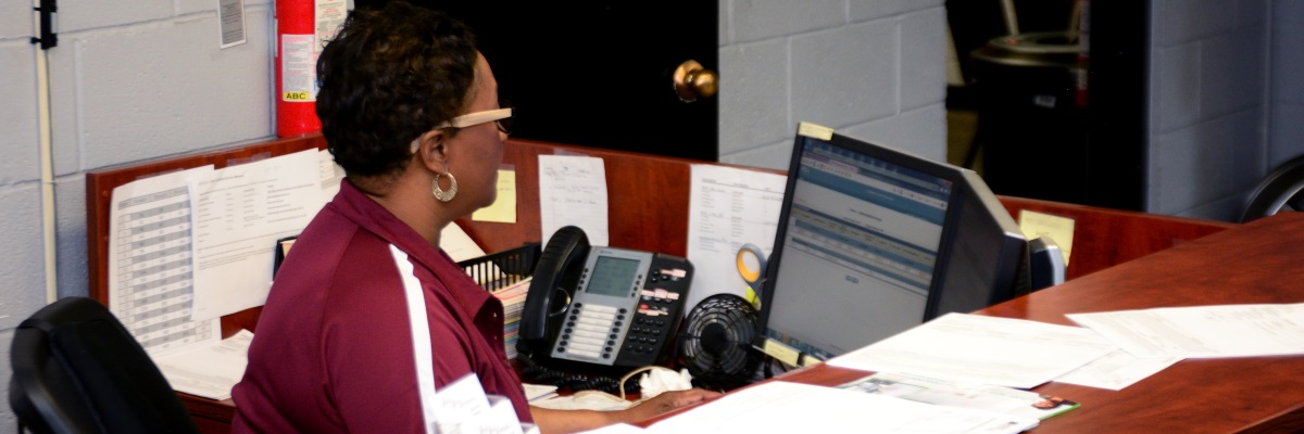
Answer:
[(720, 160), (788, 168), (810, 121), (945, 160), (941, 0), (720, 1)]

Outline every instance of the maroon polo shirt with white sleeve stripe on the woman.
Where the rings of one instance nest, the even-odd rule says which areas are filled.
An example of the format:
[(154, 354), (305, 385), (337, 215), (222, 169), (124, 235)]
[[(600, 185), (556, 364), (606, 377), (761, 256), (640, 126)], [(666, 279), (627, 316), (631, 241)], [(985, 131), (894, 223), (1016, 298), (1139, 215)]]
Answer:
[(276, 274), (232, 391), (235, 431), (425, 431), (404, 278), (420, 283), (436, 388), (475, 373), (531, 421), (503, 351), (502, 304), (346, 181)]

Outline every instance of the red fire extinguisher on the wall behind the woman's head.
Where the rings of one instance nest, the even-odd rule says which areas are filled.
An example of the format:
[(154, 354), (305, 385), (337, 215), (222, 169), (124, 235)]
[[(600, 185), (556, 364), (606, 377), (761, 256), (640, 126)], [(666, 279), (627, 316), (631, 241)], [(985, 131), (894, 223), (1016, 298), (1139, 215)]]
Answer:
[(347, 0), (276, 0), (276, 136), (321, 130), (317, 56), (347, 14)]

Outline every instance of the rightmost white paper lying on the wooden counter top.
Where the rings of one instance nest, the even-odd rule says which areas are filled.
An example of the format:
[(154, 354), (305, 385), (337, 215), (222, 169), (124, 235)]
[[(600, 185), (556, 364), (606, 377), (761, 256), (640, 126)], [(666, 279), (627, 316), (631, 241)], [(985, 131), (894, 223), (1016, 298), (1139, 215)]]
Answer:
[(1067, 317), (1137, 357), (1304, 354), (1304, 304), (1159, 308)]

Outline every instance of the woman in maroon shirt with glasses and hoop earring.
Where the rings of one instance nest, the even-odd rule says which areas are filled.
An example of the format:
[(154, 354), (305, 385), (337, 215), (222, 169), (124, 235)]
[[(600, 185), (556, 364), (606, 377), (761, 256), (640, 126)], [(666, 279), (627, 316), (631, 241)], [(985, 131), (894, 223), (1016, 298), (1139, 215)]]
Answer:
[(466, 26), (402, 3), (356, 10), (317, 69), (322, 134), (347, 177), (278, 271), (232, 392), (236, 431), (429, 430), (450, 420), (436, 394), (468, 374), (545, 433), (716, 396), (669, 392), (622, 412), (528, 405), (502, 304), (438, 248), (443, 227), (493, 203), (511, 113)]

